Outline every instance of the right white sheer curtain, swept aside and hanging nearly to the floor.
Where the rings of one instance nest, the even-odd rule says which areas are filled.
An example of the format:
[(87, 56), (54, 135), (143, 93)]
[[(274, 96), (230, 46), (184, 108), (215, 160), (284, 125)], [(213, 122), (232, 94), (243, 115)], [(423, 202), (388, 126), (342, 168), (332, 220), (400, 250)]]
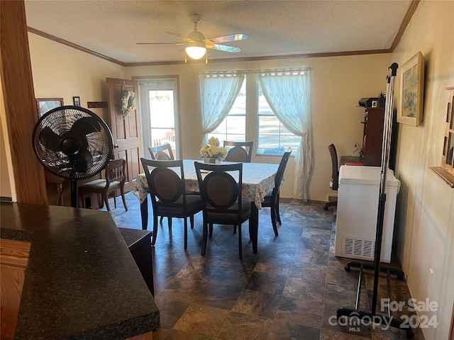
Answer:
[(295, 157), (294, 195), (306, 201), (314, 153), (310, 69), (258, 72), (257, 77), (277, 119), (294, 135), (301, 136)]

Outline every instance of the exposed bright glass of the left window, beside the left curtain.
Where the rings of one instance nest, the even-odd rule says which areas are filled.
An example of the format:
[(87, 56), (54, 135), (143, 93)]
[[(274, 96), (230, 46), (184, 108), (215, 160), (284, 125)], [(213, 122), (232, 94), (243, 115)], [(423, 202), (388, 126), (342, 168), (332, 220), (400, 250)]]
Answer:
[(210, 133), (210, 136), (218, 140), (230, 140), (244, 142), (246, 136), (246, 81), (243, 81), (240, 92), (236, 96), (235, 103), (228, 112), (221, 125)]

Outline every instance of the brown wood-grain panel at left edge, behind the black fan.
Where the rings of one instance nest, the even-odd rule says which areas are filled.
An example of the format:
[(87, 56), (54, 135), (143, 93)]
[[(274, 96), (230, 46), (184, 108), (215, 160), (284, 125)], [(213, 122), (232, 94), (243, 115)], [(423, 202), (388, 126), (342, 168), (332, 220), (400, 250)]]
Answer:
[(36, 114), (23, 0), (0, 1), (1, 81), (18, 203), (48, 204), (43, 166), (32, 146)]

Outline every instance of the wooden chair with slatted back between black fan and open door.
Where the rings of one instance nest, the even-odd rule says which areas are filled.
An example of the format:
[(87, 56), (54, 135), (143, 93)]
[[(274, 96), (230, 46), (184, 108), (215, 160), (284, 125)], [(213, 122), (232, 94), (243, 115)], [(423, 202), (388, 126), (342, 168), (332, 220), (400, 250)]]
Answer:
[[(79, 203), (79, 200), (82, 200), (82, 208), (85, 208), (85, 195), (90, 193), (98, 193), (102, 198), (100, 207), (104, 207), (104, 203), (106, 203), (107, 211), (111, 211), (111, 207), (109, 206), (109, 193), (120, 189), (123, 205), (125, 207), (125, 210), (128, 211), (124, 191), (126, 182), (126, 160), (123, 158), (111, 159), (107, 163), (105, 170), (106, 179), (95, 179), (94, 181), (84, 183), (82, 186), (79, 186), (79, 188), (77, 188), (77, 203)], [(114, 194), (114, 205), (116, 208), (115, 196), (116, 195)]]

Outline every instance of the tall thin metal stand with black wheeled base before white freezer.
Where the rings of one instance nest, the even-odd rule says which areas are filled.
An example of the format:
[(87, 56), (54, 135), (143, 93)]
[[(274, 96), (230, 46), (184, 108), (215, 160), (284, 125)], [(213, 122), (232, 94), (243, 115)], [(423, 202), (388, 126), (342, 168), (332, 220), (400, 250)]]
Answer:
[[(356, 293), (355, 307), (341, 307), (337, 310), (337, 317), (355, 317), (364, 321), (363, 324), (384, 324), (390, 327), (403, 329), (406, 331), (406, 337), (412, 338), (414, 336), (413, 330), (409, 324), (404, 322), (403, 319), (394, 318), (391, 315), (391, 310), (388, 305), (387, 315), (377, 314), (377, 295), (380, 272), (387, 274), (387, 297), (390, 300), (390, 276), (396, 275), (399, 280), (404, 279), (404, 272), (395, 268), (387, 268), (380, 266), (380, 256), (382, 254), (382, 235), (383, 235), (383, 221), (384, 221), (384, 207), (386, 203), (386, 176), (389, 164), (389, 149), (391, 146), (391, 132), (392, 132), (392, 113), (394, 101), (394, 79), (396, 78), (397, 68), (399, 65), (393, 63), (390, 67), (390, 74), (387, 76), (387, 89), (386, 89), (386, 106), (384, 109), (384, 126), (383, 126), (383, 142), (382, 142), (382, 169), (380, 172), (380, 192), (377, 209), (377, 229), (375, 232), (375, 256), (374, 264), (349, 262), (345, 266), (346, 271), (350, 268), (360, 268), (360, 275), (358, 277), (358, 289)], [(365, 269), (374, 271), (374, 287), (372, 290), (372, 306), (370, 310), (360, 310), (360, 296), (361, 296), (361, 283), (364, 276)], [(358, 324), (358, 323), (357, 323)]]

